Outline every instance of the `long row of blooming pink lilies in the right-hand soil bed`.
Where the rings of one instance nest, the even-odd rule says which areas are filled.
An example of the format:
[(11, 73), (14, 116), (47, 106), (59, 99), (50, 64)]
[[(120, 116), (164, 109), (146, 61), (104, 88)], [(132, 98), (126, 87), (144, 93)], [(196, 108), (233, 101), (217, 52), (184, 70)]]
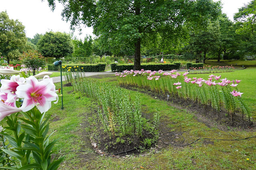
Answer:
[(238, 91), (238, 85), (241, 80), (221, 79), (221, 75), (209, 75), (208, 79), (188, 78), (188, 72), (181, 75), (177, 70), (163, 73), (157, 71), (123, 71), (116, 73), (119, 85), (129, 85), (143, 88), (155, 93), (170, 95), (201, 103), (204, 107), (210, 105), (213, 111), (220, 113), (226, 110), (231, 121), (234, 120), (236, 112), (247, 115), (250, 122), (250, 111), (241, 96), (243, 93)]

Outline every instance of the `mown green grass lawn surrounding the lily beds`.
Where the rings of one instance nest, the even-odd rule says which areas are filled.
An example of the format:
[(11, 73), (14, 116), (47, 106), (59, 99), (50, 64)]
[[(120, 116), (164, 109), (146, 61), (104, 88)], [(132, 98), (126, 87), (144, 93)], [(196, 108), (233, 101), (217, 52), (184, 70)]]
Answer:
[[(222, 78), (240, 79), (239, 91), (246, 103), (255, 114), (255, 68), (246, 68), (231, 73), (221, 73)], [(206, 75), (189, 75), (189, 77), (204, 77)], [(220, 73), (216, 74), (220, 75)], [(102, 78), (101, 78), (102, 77)], [(99, 79), (100, 78), (100, 79)], [(116, 77), (98, 76), (97, 80), (117, 85)], [(60, 83), (56, 84), (56, 89)], [(63, 104), (52, 104), (47, 112), (51, 115), (51, 132), (56, 130), (53, 138), (61, 137), (59, 145), (54, 148), (55, 156), (66, 155), (60, 169), (256, 169), (256, 138), (239, 141), (198, 140), (194, 144), (184, 147), (165, 146), (159, 143), (150, 151), (145, 150), (141, 155), (132, 155), (126, 158), (112, 158), (96, 154), (89, 138), (97, 134), (95, 123), (98, 119), (94, 110), (97, 104), (80, 94), (74, 93), (72, 87), (63, 88)], [(130, 91), (131, 96), (135, 91)], [(161, 122), (165, 124), (167, 132), (176, 132), (185, 137), (185, 143), (193, 142), (198, 138), (238, 139), (256, 136), (255, 129), (241, 130), (229, 128), (220, 130), (209, 127), (197, 120), (193, 113), (172, 107), (169, 101), (162, 101), (155, 97), (141, 93), (142, 111), (153, 114), (158, 107)], [(255, 122), (254, 122), (255, 123)], [(163, 133), (163, 132), (162, 132)], [(161, 138), (160, 138), (161, 139)], [(247, 158), (249, 160), (247, 160)]]

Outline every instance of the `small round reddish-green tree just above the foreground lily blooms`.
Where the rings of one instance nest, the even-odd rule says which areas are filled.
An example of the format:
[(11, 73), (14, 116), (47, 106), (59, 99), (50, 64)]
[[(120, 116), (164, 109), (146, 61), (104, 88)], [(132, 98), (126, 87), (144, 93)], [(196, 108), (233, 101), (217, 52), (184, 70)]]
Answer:
[(33, 75), (36, 75), (37, 69), (46, 64), (44, 57), (36, 50), (28, 50), (28, 52), (23, 53), (20, 60), (26, 67), (33, 70)]

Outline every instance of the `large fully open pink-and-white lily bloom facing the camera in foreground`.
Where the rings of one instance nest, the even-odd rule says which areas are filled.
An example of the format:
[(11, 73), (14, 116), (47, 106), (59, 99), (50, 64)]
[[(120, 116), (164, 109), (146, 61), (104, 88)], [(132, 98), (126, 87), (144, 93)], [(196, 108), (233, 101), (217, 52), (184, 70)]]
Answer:
[(24, 99), (20, 107), (24, 112), (36, 106), (41, 113), (44, 113), (50, 109), (52, 101), (58, 101), (55, 85), (52, 79), (47, 78), (40, 82), (33, 76), (26, 78), (26, 85), (19, 85), (16, 94)]

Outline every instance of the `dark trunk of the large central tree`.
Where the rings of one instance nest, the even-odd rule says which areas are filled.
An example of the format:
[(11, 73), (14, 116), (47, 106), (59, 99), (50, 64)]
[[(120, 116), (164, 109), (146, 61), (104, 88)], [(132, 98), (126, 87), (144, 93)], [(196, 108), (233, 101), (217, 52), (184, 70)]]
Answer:
[[(140, 2), (139, 0), (134, 1), (135, 16), (140, 15)], [(141, 33), (141, 27), (138, 28), (139, 33)], [(134, 54), (134, 67), (133, 70), (141, 70), (141, 38), (139, 37), (135, 42), (135, 54)]]

